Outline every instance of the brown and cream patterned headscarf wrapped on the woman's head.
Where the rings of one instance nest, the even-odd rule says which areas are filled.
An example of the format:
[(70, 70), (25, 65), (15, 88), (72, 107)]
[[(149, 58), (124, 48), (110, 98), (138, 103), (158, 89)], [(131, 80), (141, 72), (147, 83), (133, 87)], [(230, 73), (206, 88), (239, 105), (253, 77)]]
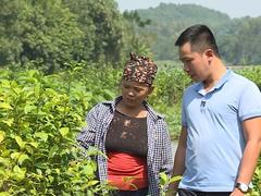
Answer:
[(123, 79), (152, 85), (158, 71), (157, 64), (149, 58), (136, 57), (133, 52), (129, 56), (130, 60), (126, 62), (123, 71)]

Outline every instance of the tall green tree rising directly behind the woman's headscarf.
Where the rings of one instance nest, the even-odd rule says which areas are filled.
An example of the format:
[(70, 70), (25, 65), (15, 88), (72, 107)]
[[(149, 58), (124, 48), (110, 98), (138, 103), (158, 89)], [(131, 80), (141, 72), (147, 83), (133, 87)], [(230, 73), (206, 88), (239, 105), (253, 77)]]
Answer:
[(80, 59), (117, 62), (124, 56), (126, 23), (114, 0), (63, 0), (84, 32)]

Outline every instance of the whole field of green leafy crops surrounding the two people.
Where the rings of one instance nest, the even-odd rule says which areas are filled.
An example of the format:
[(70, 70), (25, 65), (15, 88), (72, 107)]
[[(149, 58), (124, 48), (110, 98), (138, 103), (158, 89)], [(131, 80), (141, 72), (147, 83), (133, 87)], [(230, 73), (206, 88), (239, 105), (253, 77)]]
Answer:
[[(1, 70), (0, 196), (105, 195), (110, 189), (96, 180), (96, 162), (88, 159), (97, 151), (82, 155), (75, 136), (92, 106), (119, 95), (121, 71), (82, 68), (74, 64), (52, 75)], [(261, 87), (260, 66), (236, 72)], [(149, 98), (165, 115), (173, 138), (181, 128), (182, 94), (190, 83), (182, 70), (164, 69)], [(261, 162), (253, 183), (252, 195), (261, 195)]]

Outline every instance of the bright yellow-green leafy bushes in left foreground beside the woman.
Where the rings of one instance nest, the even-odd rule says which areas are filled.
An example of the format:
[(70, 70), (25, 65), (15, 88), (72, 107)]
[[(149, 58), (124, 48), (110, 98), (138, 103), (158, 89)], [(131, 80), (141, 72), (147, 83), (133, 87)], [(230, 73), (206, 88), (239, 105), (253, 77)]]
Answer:
[(90, 84), (73, 74), (1, 70), (0, 195), (102, 195), (110, 189), (96, 180), (96, 162), (89, 152), (80, 154), (75, 137), (90, 107), (114, 94), (102, 88), (94, 95), (86, 90)]

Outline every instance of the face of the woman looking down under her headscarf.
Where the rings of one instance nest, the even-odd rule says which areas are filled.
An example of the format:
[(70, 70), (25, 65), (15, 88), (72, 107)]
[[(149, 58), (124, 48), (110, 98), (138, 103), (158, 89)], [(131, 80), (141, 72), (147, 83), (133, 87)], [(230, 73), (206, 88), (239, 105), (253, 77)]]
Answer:
[(152, 87), (146, 84), (139, 84), (130, 81), (122, 81), (121, 91), (123, 97), (123, 102), (127, 107), (139, 107), (142, 101), (152, 91)]

